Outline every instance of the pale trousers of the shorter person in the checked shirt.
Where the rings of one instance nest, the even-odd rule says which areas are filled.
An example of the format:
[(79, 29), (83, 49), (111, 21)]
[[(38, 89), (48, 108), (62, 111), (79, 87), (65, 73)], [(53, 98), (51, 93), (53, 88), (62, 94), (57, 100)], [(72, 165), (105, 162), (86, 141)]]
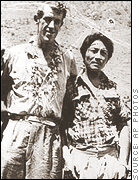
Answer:
[(114, 146), (101, 147), (99, 151), (70, 146), (70, 152), (64, 154), (64, 179), (119, 179), (120, 164)]

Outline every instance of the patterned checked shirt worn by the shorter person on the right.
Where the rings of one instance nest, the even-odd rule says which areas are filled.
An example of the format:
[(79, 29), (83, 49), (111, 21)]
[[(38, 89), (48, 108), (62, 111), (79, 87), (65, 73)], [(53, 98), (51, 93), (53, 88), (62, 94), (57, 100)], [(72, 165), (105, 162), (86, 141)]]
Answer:
[(84, 69), (68, 80), (63, 105), (63, 126), (72, 145), (90, 146), (118, 142), (130, 120), (130, 108), (118, 94), (117, 84), (101, 72), (95, 88)]

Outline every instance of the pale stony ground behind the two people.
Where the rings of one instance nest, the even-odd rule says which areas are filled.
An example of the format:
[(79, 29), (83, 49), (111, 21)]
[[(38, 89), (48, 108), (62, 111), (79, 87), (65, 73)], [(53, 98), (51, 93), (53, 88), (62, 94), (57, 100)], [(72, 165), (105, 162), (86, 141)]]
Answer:
[[(48, 3), (50, 1), (47, 1)], [(37, 34), (33, 16), (45, 1), (1, 1), (1, 37), (7, 48), (26, 43)], [(104, 68), (131, 99), (131, 1), (65, 1), (67, 18), (57, 41), (72, 48), (78, 70), (83, 66), (79, 48), (90, 33), (100, 31), (114, 42), (114, 54)], [(114, 23), (108, 23), (109, 19)]]

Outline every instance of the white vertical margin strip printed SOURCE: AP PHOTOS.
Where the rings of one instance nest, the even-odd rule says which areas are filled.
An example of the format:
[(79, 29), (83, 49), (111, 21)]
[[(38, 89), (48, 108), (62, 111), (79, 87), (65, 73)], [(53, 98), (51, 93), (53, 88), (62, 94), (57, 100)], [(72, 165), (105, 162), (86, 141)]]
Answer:
[(139, 2), (132, 1), (132, 178), (139, 179)]

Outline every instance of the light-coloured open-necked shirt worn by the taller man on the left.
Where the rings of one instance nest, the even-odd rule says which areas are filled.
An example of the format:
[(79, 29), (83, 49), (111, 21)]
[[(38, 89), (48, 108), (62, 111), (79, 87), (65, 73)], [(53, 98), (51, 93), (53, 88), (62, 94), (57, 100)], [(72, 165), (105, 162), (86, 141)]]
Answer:
[(7, 96), (10, 113), (61, 117), (67, 79), (77, 74), (71, 51), (55, 42), (48, 65), (36, 39), (17, 45), (4, 57), (3, 76), (11, 76), (14, 84)]

